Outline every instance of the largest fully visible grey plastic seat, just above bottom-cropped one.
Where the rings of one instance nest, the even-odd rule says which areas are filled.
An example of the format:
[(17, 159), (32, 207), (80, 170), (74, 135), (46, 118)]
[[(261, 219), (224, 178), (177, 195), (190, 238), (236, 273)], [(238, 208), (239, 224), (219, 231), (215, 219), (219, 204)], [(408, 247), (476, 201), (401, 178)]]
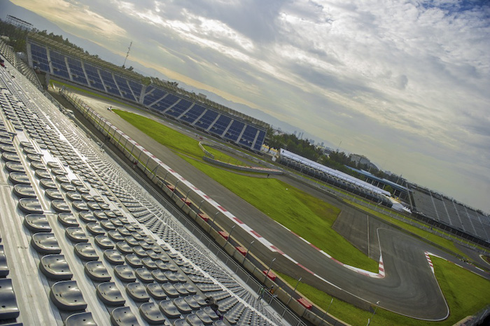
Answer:
[(60, 310), (77, 311), (87, 308), (76, 281), (59, 281), (51, 285), (50, 298)]

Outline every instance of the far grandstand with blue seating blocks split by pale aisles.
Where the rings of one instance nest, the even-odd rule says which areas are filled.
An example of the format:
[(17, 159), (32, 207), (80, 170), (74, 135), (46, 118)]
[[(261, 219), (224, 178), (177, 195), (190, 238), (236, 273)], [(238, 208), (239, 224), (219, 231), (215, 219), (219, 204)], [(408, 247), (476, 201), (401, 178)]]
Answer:
[[(131, 101), (242, 148), (258, 152), (265, 141), (269, 128), (265, 122), (186, 92), (172, 83), (145, 78), (39, 34), (29, 34), (27, 55), (30, 66), (53, 78)], [(144, 83), (144, 80), (150, 80), (150, 83)]]

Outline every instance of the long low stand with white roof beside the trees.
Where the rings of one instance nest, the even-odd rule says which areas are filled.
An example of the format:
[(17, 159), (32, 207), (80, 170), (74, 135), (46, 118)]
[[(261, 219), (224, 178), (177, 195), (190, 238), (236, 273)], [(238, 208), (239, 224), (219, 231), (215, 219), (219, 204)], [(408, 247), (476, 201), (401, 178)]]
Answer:
[(383, 206), (391, 207), (393, 205), (387, 198), (390, 193), (386, 190), (349, 176), (349, 174), (330, 169), (328, 166), (318, 164), (283, 148), (279, 152), (279, 163)]

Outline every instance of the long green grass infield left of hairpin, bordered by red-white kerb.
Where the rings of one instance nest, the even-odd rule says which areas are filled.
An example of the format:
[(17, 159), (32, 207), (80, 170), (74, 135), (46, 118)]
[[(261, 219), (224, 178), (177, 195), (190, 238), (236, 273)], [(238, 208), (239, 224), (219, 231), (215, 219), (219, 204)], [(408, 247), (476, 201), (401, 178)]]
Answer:
[(337, 260), (367, 271), (378, 271), (377, 262), (332, 229), (332, 224), (340, 213), (339, 208), (318, 201), (306, 192), (273, 178), (250, 178), (205, 164), (201, 160), (202, 150), (195, 139), (140, 115), (117, 110), (114, 112)]

